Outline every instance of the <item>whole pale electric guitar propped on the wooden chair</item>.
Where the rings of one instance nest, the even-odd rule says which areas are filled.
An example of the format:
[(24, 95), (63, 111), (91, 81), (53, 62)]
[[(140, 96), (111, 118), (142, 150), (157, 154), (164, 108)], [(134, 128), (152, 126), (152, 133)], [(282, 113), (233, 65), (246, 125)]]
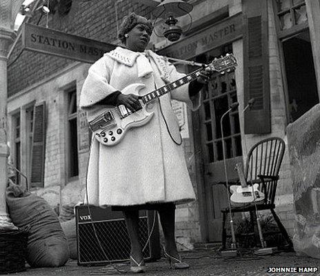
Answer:
[(264, 200), (264, 194), (259, 190), (259, 184), (248, 185), (243, 175), (241, 164), (236, 164), (235, 169), (238, 172), (241, 186), (232, 185), (230, 201), (233, 206), (243, 206), (250, 203), (259, 203)]

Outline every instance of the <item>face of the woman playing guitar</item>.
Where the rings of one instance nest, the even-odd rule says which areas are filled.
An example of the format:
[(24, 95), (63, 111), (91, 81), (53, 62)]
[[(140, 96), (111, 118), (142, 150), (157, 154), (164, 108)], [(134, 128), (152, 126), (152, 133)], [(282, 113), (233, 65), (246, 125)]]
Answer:
[(143, 23), (138, 23), (126, 38), (126, 48), (134, 52), (143, 52), (150, 41), (150, 29)]

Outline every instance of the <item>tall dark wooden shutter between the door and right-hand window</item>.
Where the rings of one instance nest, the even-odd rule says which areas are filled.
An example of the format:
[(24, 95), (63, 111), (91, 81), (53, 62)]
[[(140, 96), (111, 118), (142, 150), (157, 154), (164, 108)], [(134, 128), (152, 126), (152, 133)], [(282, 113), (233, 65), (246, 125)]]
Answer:
[(267, 0), (244, 0), (245, 33), (243, 35), (244, 104), (255, 99), (244, 115), (244, 130), (270, 133), (270, 83)]

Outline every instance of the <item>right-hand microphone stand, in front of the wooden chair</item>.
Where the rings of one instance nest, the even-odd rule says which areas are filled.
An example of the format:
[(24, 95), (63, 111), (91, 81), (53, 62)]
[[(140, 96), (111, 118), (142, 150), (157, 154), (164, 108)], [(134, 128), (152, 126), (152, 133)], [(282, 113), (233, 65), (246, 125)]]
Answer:
[[(244, 112), (246, 112), (246, 110), (248, 108), (251, 109), (253, 104), (254, 104), (254, 98), (252, 98), (252, 99), (250, 99), (248, 101), (248, 105), (246, 106), (246, 108), (243, 108), (243, 112), (242, 113), (244, 114)], [(244, 145), (245, 145), (246, 155), (247, 155), (247, 159), (248, 159), (248, 148), (247, 148), (247, 143), (246, 143), (246, 135), (244, 137)], [(251, 188), (252, 188), (252, 195), (254, 197), (253, 203), (254, 203), (254, 209), (255, 209), (255, 213), (256, 213), (259, 239), (260, 239), (260, 243), (261, 243), (261, 248), (256, 250), (254, 252), (254, 254), (256, 254), (256, 255), (270, 255), (270, 254), (274, 253), (274, 251), (277, 250), (277, 247), (269, 247), (269, 248), (267, 248), (266, 242), (263, 239), (262, 229), (261, 229), (261, 224), (260, 224), (260, 218), (259, 218), (259, 211), (258, 211), (258, 208), (257, 208), (257, 202), (255, 201), (256, 197), (255, 197), (255, 194), (254, 194), (254, 188), (253, 188), (253, 185), (252, 185), (252, 179), (250, 179), (250, 184), (251, 184)]]

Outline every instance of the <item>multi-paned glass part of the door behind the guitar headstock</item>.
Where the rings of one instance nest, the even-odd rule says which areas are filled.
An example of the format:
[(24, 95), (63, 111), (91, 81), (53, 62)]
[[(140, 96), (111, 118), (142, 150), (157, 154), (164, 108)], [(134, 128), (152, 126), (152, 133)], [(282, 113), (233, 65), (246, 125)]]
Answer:
[[(232, 53), (232, 45), (215, 48), (203, 55), (198, 55), (195, 61), (210, 63), (215, 57)], [(189, 67), (190, 71), (194, 67)], [(220, 120), (229, 106), (237, 101), (237, 87), (234, 70), (220, 74), (212, 74), (208, 85), (203, 87), (202, 105), (200, 108), (202, 121), (202, 141), (205, 145), (206, 160), (213, 163), (223, 160), (223, 144), (226, 146), (228, 159), (242, 155), (239, 112), (234, 110), (223, 119), (223, 139)]]

